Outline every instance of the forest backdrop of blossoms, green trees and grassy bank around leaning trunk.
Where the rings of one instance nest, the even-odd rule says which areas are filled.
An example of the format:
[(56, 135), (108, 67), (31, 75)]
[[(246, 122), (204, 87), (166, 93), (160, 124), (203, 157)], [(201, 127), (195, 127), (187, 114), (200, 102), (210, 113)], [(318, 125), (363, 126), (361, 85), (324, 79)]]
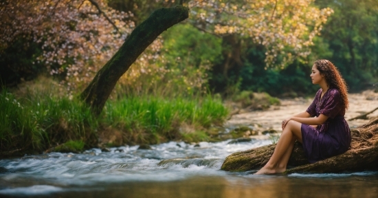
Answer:
[[(51, 105), (59, 104), (61, 106), (56, 108), (65, 111), (66, 106), (75, 103), (67, 101), (76, 100), (75, 96), (85, 89), (137, 25), (157, 8), (173, 7), (178, 2), (25, 2), (0, 1), (1, 105), (10, 112), (14, 111), (12, 108), (25, 105), (35, 108), (41, 101), (50, 106), (39, 111), (29, 109), (32, 113), (25, 115), (30, 117), (27, 119), (3, 111), (2, 120), (9, 123), (3, 122), (0, 127), (2, 151), (21, 148), (41, 151), (70, 140), (77, 140), (82, 148), (97, 144), (92, 137), (93, 131), (96, 131), (94, 139), (101, 136), (98, 131), (119, 133), (122, 141), (110, 141), (111, 145), (208, 139), (211, 137), (208, 128), (219, 125), (229, 113), (219, 102), (220, 98), (235, 98), (241, 91), (266, 92), (278, 97), (312, 97), (318, 87), (311, 84), (309, 74), (317, 59), (333, 62), (350, 91), (371, 88), (378, 83), (377, 1), (184, 1), (190, 8), (189, 19), (159, 36), (120, 78), (104, 108), (104, 115), (100, 116), (102, 121), (92, 118), (90, 112), (80, 110), (85, 111), (81, 113), (83, 118), (57, 117), (48, 123), (36, 122), (30, 119), (51, 117), (49, 113), (54, 109)], [(9, 87), (22, 87), (25, 81), (35, 81), (38, 76), (47, 77), (42, 78), (39, 85), (27, 85), (26, 94), (19, 88), (10, 88), (16, 91), (9, 93)], [(46, 87), (50, 89), (41, 91)], [(219, 95), (214, 97), (213, 94)], [(157, 98), (152, 106), (151, 96)], [(14, 98), (14, 107), (6, 103), (10, 98)], [(22, 98), (27, 98), (30, 104), (23, 103)], [(175, 103), (172, 98), (180, 98), (179, 105), (190, 104), (194, 110), (190, 110), (192, 113), (186, 118), (164, 122), (162, 120), (167, 120), (167, 116), (160, 118), (156, 112), (162, 110), (156, 108)], [(205, 105), (206, 101), (208, 114), (195, 114), (195, 109), (203, 109), (196, 105)], [(145, 125), (135, 122), (142, 117), (126, 122), (118, 117), (129, 116), (128, 113), (115, 115), (115, 110), (109, 110), (125, 109), (125, 105), (131, 106), (135, 102), (150, 105), (146, 110), (148, 116), (140, 115), (147, 120)], [(80, 102), (76, 103), (77, 107), (69, 108), (85, 109)], [(120, 107), (115, 107), (117, 105)], [(186, 108), (177, 106), (177, 111)], [(167, 111), (164, 110), (166, 114)], [(45, 112), (45, 117), (36, 112)], [(135, 109), (129, 109), (129, 112), (135, 112)], [(25, 110), (19, 110), (19, 113), (25, 114)], [(177, 114), (180, 113), (172, 112), (169, 116), (173, 118)], [(11, 119), (10, 115), (17, 118)], [(71, 123), (68, 120), (79, 121)], [(30, 126), (30, 132), (26, 125)], [(193, 130), (197, 132), (190, 132)], [(61, 131), (65, 131), (65, 135)], [(19, 137), (23, 137), (22, 141)], [(32, 143), (25, 146), (23, 142)]]

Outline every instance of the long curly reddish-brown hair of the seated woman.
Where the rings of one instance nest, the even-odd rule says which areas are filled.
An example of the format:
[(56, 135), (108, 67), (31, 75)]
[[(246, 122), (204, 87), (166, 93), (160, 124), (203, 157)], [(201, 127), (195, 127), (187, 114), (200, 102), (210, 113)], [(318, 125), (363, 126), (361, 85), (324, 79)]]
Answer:
[(349, 102), (348, 102), (348, 87), (346, 87), (346, 83), (342, 75), (340, 74), (339, 70), (331, 61), (328, 60), (318, 60), (314, 62), (316, 69), (319, 70), (320, 74), (324, 74), (326, 78), (326, 83), (329, 88), (337, 89), (340, 92), (340, 96), (342, 97), (342, 104), (344, 109), (348, 109)]

